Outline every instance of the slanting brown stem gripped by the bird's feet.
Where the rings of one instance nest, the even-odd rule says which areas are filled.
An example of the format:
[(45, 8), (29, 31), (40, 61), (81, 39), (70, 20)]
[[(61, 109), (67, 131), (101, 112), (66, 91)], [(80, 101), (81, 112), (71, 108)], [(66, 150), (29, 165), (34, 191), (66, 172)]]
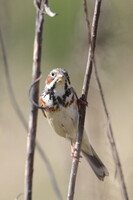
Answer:
[[(89, 52), (88, 52), (88, 61), (87, 61), (86, 73), (85, 73), (85, 77), (84, 77), (82, 96), (81, 96), (81, 98), (85, 102), (87, 101), (89, 83), (90, 83), (90, 78), (91, 78), (91, 73), (92, 73), (93, 55), (95, 53), (100, 7), (101, 7), (101, 0), (96, 0), (93, 21), (92, 21), (92, 30), (91, 30), (91, 45), (89, 47)], [(72, 161), (72, 168), (71, 168), (71, 174), (70, 174), (70, 180), (69, 180), (67, 200), (73, 200), (73, 197), (74, 197), (76, 175), (77, 175), (77, 170), (78, 170), (82, 136), (83, 136), (83, 131), (84, 131), (85, 114), (86, 114), (86, 106), (85, 106), (85, 104), (81, 104), (78, 135), (77, 135), (76, 144), (75, 144), (75, 148), (77, 149), (77, 151), (75, 151), (75, 154), (76, 154), (75, 156), (77, 159), (73, 159), (73, 161)]]

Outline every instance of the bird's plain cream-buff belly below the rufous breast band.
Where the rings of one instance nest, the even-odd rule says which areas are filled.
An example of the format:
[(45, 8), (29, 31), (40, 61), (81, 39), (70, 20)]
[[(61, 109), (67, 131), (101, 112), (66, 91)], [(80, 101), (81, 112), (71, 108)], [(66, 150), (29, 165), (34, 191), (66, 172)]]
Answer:
[(46, 115), (49, 124), (58, 135), (75, 141), (79, 119), (76, 105), (62, 107), (60, 111), (50, 111)]

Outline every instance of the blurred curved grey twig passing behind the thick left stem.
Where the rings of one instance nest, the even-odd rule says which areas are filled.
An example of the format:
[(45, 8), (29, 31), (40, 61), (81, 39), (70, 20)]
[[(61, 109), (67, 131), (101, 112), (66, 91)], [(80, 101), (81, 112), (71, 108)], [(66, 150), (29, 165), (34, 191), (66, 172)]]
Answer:
[[(3, 57), (3, 64), (4, 64), (4, 72), (5, 72), (5, 78), (6, 78), (6, 82), (7, 82), (7, 89), (8, 89), (8, 94), (12, 103), (12, 106), (20, 120), (20, 122), (22, 123), (22, 125), (24, 126), (25, 130), (28, 130), (28, 124), (27, 121), (22, 113), (22, 110), (20, 109), (20, 106), (17, 102), (17, 99), (15, 97), (15, 93), (13, 90), (13, 86), (12, 86), (12, 81), (11, 81), (11, 76), (10, 76), (10, 72), (9, 72), (9, 64), (8, 64), (8, 59), (7, 59), (7, 54), (6, 54), (6, 49), (5, 49), (5, 44), (4, 44), (4, 39), (3, 39), (3, 35), (1, 32), (1, 28), (0, 28), (0, 46), (1, 46), (1, 52), (2, 52), (2, 57)], [(31, 88), (31, 87), (30, 87)], [(44, 163), (44, 165), (47, 168), (47, 172), (48, 175), (50, 177), (51, 180), (51, 184), (53, 186), (53, 190), (55, 192), (56, 198), (57, 200), (62, 200), (62, 195), (61, 192), (59, 190), (55, 175), (54, 175), (54, 171), (51, 167), (51, 164), (46, 156), (46, 154), (44, 153), (43, 149), (41, 148), (40, 144), (38, 141), (36, 141), (36, 149)], [(21, 193), (22, 194), (22, 193)], [(16, 197), (19, 198), (20, 194)]]

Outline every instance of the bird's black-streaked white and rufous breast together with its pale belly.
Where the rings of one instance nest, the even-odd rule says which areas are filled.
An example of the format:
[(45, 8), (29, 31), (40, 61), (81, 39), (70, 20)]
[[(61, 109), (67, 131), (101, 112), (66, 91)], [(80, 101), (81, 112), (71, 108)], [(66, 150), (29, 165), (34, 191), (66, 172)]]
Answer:
[(45, 102), (45, 114), (54, 131), (65, 138), (75, 141), (78, 126), (77, 97), (72, 88), (65, 93), (56, 90), (42, 95)]

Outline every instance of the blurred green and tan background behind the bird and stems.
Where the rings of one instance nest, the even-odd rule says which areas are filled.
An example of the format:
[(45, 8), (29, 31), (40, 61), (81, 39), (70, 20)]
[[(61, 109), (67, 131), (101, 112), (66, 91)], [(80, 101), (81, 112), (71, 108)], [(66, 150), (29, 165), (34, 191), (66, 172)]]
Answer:
[[(35, 8), (32, 1), (0, 0), (0, 27), (4, 35), (14, 92), (28, 123), (28, 88), (32, 74)], [(81, 94), (87, 61), (87, 28), (83, 2), (49, 1), (57, 17), (45, 16), (40, 93), (49, 71), (68, 70), (73, 87)], [(92, 19), (94, 1), (88, 1)], [(129, 198), (133, 196), (133, 2), (103, 1), (96, 48), (97, 67), (111, 116)], [(3, 93), (2, 93), (3, 92)], [(24, 190), (26, 134), (14, 111), (0, 50), (0, 199), (12, 200)], [(110, 144), (107, 121), (93, 73), (88, 95), (86, 130), (90, 141), (107, 166), (110, 176), (100, 182), (84, 158), (79, 164), (75, 200), (122, 199)], [(71, 169), (70, 144), (56, 135), (41, 111), (37, 139), (54, 170), (66, 199)], [(20, 199), (23, 199), (21, 197)], [(38, 152), (35, 154), (33, 200), (55, 200), (49, 175)]]

